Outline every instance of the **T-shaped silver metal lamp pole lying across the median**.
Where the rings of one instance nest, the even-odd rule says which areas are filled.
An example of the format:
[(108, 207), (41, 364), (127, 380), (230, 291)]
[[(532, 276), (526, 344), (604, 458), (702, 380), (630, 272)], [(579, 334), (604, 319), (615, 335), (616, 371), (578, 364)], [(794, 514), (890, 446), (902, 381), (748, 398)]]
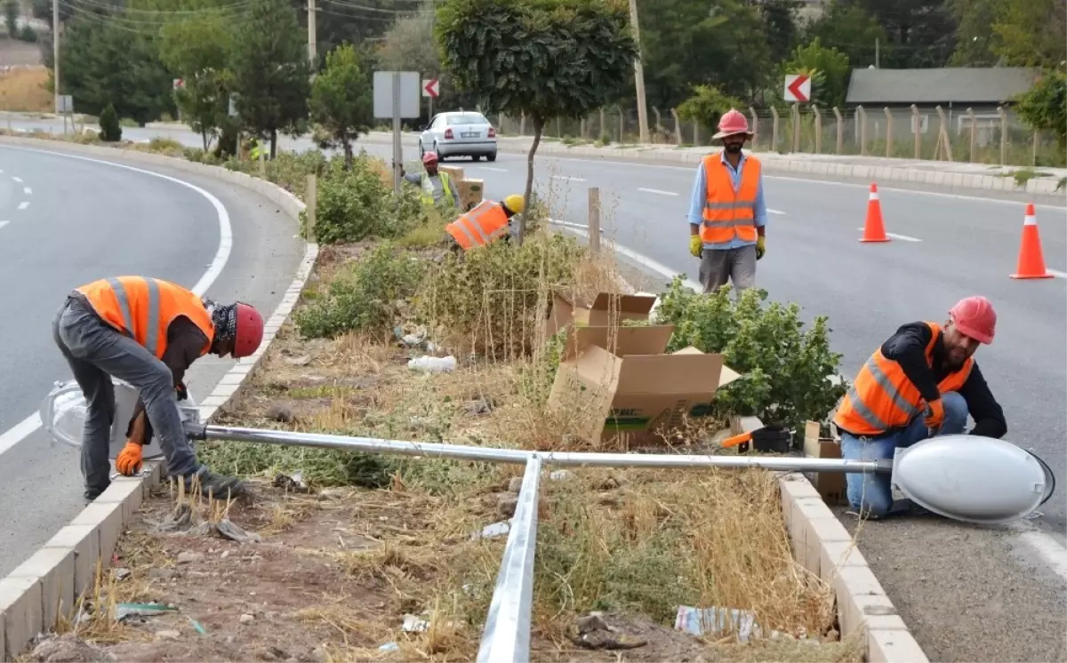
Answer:
[(535, 452), (436, 442), (412, 442), (317, 433), (202, 426), (194, 439), (218, 439), (319, 449), (343, 449), (430, 458), (451, 458), (526, 466), (515, 515), (511, 520), (500, 570), (478, 649), (478, 663), (527, 663), (534, 608), (541, 470), (545, 466), (706, 469), (762, 468), (778, 471), (887, 472), (892, 462), (798, 458), (782, 456), (714, 456), (591, 452)]

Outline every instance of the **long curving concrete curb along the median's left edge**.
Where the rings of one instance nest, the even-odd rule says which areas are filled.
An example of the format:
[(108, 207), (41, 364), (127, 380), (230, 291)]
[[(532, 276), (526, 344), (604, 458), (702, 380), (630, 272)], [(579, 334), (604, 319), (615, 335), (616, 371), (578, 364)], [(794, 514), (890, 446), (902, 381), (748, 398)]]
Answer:
[[(222, 179), (251, 190), (276, 203), (294, 221), (304, 204), (289, 192), (258, 178), (219, 166), (185, 161), (133, 150), (0, 136), (0, 145), (18, 145), (92, 156), (114, 161), (159, 165)], [(315, 266), (319, 247), (307, 244), (304, 258), (282, 302), (267, 320), (264, 342), (251, 357), (238, 360), (201, 403), (201, 417), (208, 420), (234, 399), (267, 354), (275, 335), (292, 312), (300, 293)], [(13, 661), (37, 633), (53, 627), (59, 615), (70, 615), (78, 596), (93, 588), (97, 565), (107, 568), (123, 528), (132, 520), (148, 490), (162, 476), (161, 462), (145, 463), (141, 476), (117, 478), (111, 486), (86, 506), (69, 524), (61, 529), (43, 548), (0, 580), (0, 660)]]

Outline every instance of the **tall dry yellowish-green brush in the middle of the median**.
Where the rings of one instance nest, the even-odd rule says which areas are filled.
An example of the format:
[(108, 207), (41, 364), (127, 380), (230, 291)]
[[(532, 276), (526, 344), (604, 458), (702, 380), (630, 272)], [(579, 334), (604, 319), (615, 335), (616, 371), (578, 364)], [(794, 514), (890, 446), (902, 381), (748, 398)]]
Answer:
[(547, 232), (527, 236), (522, 246), (494, 242), (449, 254), (430, 275), (416, 310), (467, 337), (474, 352), (527, 355), (543, 327), (539, 303), (574, 286), (575, 268), (587, 255), (574, 238)]

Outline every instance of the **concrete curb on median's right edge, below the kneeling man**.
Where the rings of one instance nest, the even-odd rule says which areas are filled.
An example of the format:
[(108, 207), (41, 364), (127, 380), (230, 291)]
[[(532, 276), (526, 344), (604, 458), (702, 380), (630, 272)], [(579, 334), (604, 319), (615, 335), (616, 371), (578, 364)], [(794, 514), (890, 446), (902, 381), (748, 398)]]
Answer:
[(869, 663), (928, 663), (851, 535), (803, 474), (778, 480), (794, 559), (833, 587), (841, 636), (863, 634)]

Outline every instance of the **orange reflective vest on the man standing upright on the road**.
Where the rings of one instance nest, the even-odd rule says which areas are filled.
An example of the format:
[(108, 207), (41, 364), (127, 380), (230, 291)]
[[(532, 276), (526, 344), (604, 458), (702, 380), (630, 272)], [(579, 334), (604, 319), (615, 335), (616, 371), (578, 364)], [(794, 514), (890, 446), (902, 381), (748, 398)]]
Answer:
[(707, 198), (704, 200), (704, 223), (700, 226), (700, 240), (705, 244), (722, 244), (739, 238), (754, 242), (755, 194), (760, 190), (760, 160), (745, 157), (740, 173), (740, 188), (735, 192), (733, 179), (719, 153), (704, 157), (704, 178)]

